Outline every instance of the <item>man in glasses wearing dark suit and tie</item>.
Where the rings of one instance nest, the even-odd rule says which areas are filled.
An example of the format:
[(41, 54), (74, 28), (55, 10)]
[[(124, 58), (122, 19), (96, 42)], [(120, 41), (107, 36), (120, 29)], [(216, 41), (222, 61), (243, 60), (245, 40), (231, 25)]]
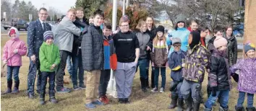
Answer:
[[(27, 31), (27, 57), (30, 58), (30, 66), (27, 76), (27, 96), (34, 97), (35, 76), (38, 71), (37, 92), (40, 94), (40, 62), (39, 62), (39, 48), (43, 43), (43, 32), (51, 30), (51, 25), (46, 23), (48, 12), (46, 8), (40, 8), (38, 12), (39, 19), (30, 23)], [(49, 91), (49, 93), (54, 91)]]

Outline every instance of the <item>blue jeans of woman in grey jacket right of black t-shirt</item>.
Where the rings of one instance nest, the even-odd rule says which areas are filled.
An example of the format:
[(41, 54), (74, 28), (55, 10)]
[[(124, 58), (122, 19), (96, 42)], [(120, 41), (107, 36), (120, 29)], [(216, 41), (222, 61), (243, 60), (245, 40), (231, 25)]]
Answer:
[(140, 77), (142, 77), (143, 79), (148, 79), (148, 68), (149, 68), (148, 59), (147, 58), (140, 59), (137, 63), (137, 68), (138, 66), (140, 66)]

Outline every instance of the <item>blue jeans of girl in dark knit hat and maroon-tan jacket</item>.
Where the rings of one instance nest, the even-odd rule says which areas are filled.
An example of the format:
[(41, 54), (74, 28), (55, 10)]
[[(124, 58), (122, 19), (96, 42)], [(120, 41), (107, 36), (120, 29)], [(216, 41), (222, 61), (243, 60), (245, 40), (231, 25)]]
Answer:
[(166, 86), (166, 67), (155, 67), (155, 87), (158, 88), (158, 76), (159, 76), (159, 70), (161, 70), (161, 76), (162, 76), (162, 84), (161, 87)]

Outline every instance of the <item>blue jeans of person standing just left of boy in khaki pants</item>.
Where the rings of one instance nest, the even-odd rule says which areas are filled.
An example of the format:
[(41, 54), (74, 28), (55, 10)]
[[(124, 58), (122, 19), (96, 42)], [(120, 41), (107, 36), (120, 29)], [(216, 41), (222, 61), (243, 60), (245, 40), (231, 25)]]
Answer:
[(78, 72), (78, 79), (80, 86), (84, 85), (84, 69), (82, 68), (82, 54), (79, 55), (72, 55), (72, 83), (73, 86), (77, 86), (77, 70)]

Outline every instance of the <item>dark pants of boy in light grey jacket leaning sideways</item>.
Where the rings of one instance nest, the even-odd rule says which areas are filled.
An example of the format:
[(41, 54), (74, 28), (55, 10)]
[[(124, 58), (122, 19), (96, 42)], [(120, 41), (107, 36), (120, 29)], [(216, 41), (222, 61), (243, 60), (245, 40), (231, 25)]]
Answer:
[(65, 74), (65, 68), (67, 64), (67, 56), (70, 53), (66, 50), (59, 50), (59, 55), (61, 56), (61, 62), (59, 63), (58, 69), (56, 71), (56, 90), (59, 91), (63, 88), (63, 79)]

